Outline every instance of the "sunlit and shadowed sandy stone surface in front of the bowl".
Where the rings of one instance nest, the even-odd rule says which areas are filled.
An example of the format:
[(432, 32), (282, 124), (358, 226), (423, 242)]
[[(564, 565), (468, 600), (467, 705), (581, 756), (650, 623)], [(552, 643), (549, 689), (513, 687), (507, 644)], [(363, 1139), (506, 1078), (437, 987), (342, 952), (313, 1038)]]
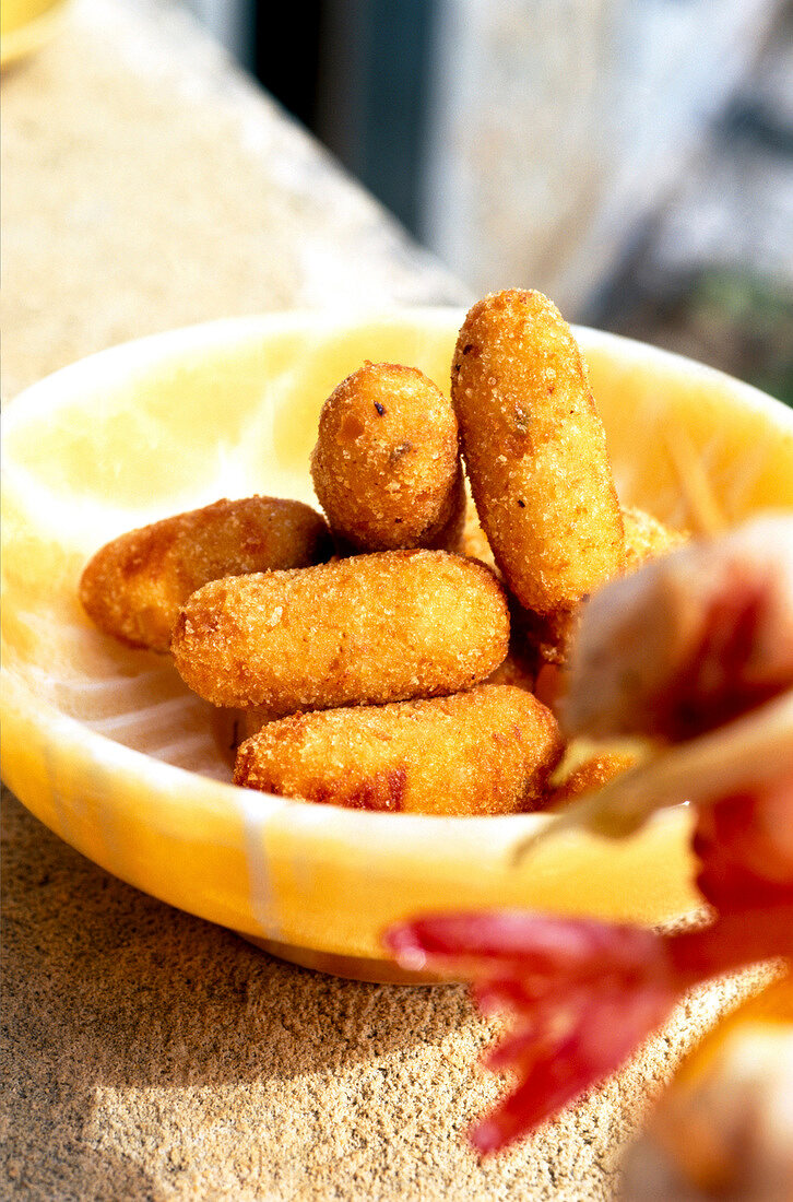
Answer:
[(691, 1034), (501, 1158), (465, 1127), (499, 1083), (459, 986), (339, 981), (123, 885), (5, 803), (4, 1156), (31, 1198), (609, 1198)]

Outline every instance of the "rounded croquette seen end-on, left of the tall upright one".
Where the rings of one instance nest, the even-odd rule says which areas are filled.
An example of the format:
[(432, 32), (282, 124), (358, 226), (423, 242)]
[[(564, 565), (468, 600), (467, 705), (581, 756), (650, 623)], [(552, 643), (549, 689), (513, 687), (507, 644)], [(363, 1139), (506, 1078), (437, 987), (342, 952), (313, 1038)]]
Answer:
[(341, 551), (457, 551), (465, 492), (452, 405), (417, 368), (366, 362), (320, 413), (311, 456)]

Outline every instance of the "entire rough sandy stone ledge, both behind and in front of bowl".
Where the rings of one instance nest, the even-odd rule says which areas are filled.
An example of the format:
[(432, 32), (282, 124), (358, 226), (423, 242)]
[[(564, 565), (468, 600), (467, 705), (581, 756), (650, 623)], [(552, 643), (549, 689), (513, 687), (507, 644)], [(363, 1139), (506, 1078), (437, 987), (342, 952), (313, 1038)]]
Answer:
[[(136, 8), (78, 2), (2, 82), (7, 395), (209, 317), (467, 299), (167, 5)], [(602, 1091), (479, 1164), (463, 1132), (499, 1089), (477, 1069), (494, 1029), (463, 988), (279, 963), (10, 796), (4, 856), (4, 1197), (608, 1198), (649, 1096), (738, 992), (705, 990)]]

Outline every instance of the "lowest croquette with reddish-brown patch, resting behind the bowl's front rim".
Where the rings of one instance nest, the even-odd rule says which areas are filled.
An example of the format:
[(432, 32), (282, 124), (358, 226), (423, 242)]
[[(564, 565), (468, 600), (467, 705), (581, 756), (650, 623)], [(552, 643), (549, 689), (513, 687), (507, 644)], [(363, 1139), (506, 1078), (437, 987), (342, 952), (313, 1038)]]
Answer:
[(294, 714), (239, 749), (234, 783), (310, 802), (415, 814), (531, 809), (561, 754), (521, 689)]

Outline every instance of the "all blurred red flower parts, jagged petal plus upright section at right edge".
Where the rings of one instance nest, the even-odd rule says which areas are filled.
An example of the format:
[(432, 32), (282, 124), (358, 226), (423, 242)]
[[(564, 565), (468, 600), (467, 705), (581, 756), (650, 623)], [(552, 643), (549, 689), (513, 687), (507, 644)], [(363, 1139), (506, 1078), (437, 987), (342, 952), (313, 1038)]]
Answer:
[(592, 918), (506, 911), (429, 915), (387, 933), (403, 965), (467, 976), (483, 1012), (515, 1016), (487, 1064), (513, 1072), (518, 1084), (472, 1129), (479, 1152), (506, 1147), (618, 1069), (693, 984), (793, 957), (788, 819), (793, 823), (789, 775), (703, 811), (699, 880), (721, 909), (699, 930), (661, 936)]

